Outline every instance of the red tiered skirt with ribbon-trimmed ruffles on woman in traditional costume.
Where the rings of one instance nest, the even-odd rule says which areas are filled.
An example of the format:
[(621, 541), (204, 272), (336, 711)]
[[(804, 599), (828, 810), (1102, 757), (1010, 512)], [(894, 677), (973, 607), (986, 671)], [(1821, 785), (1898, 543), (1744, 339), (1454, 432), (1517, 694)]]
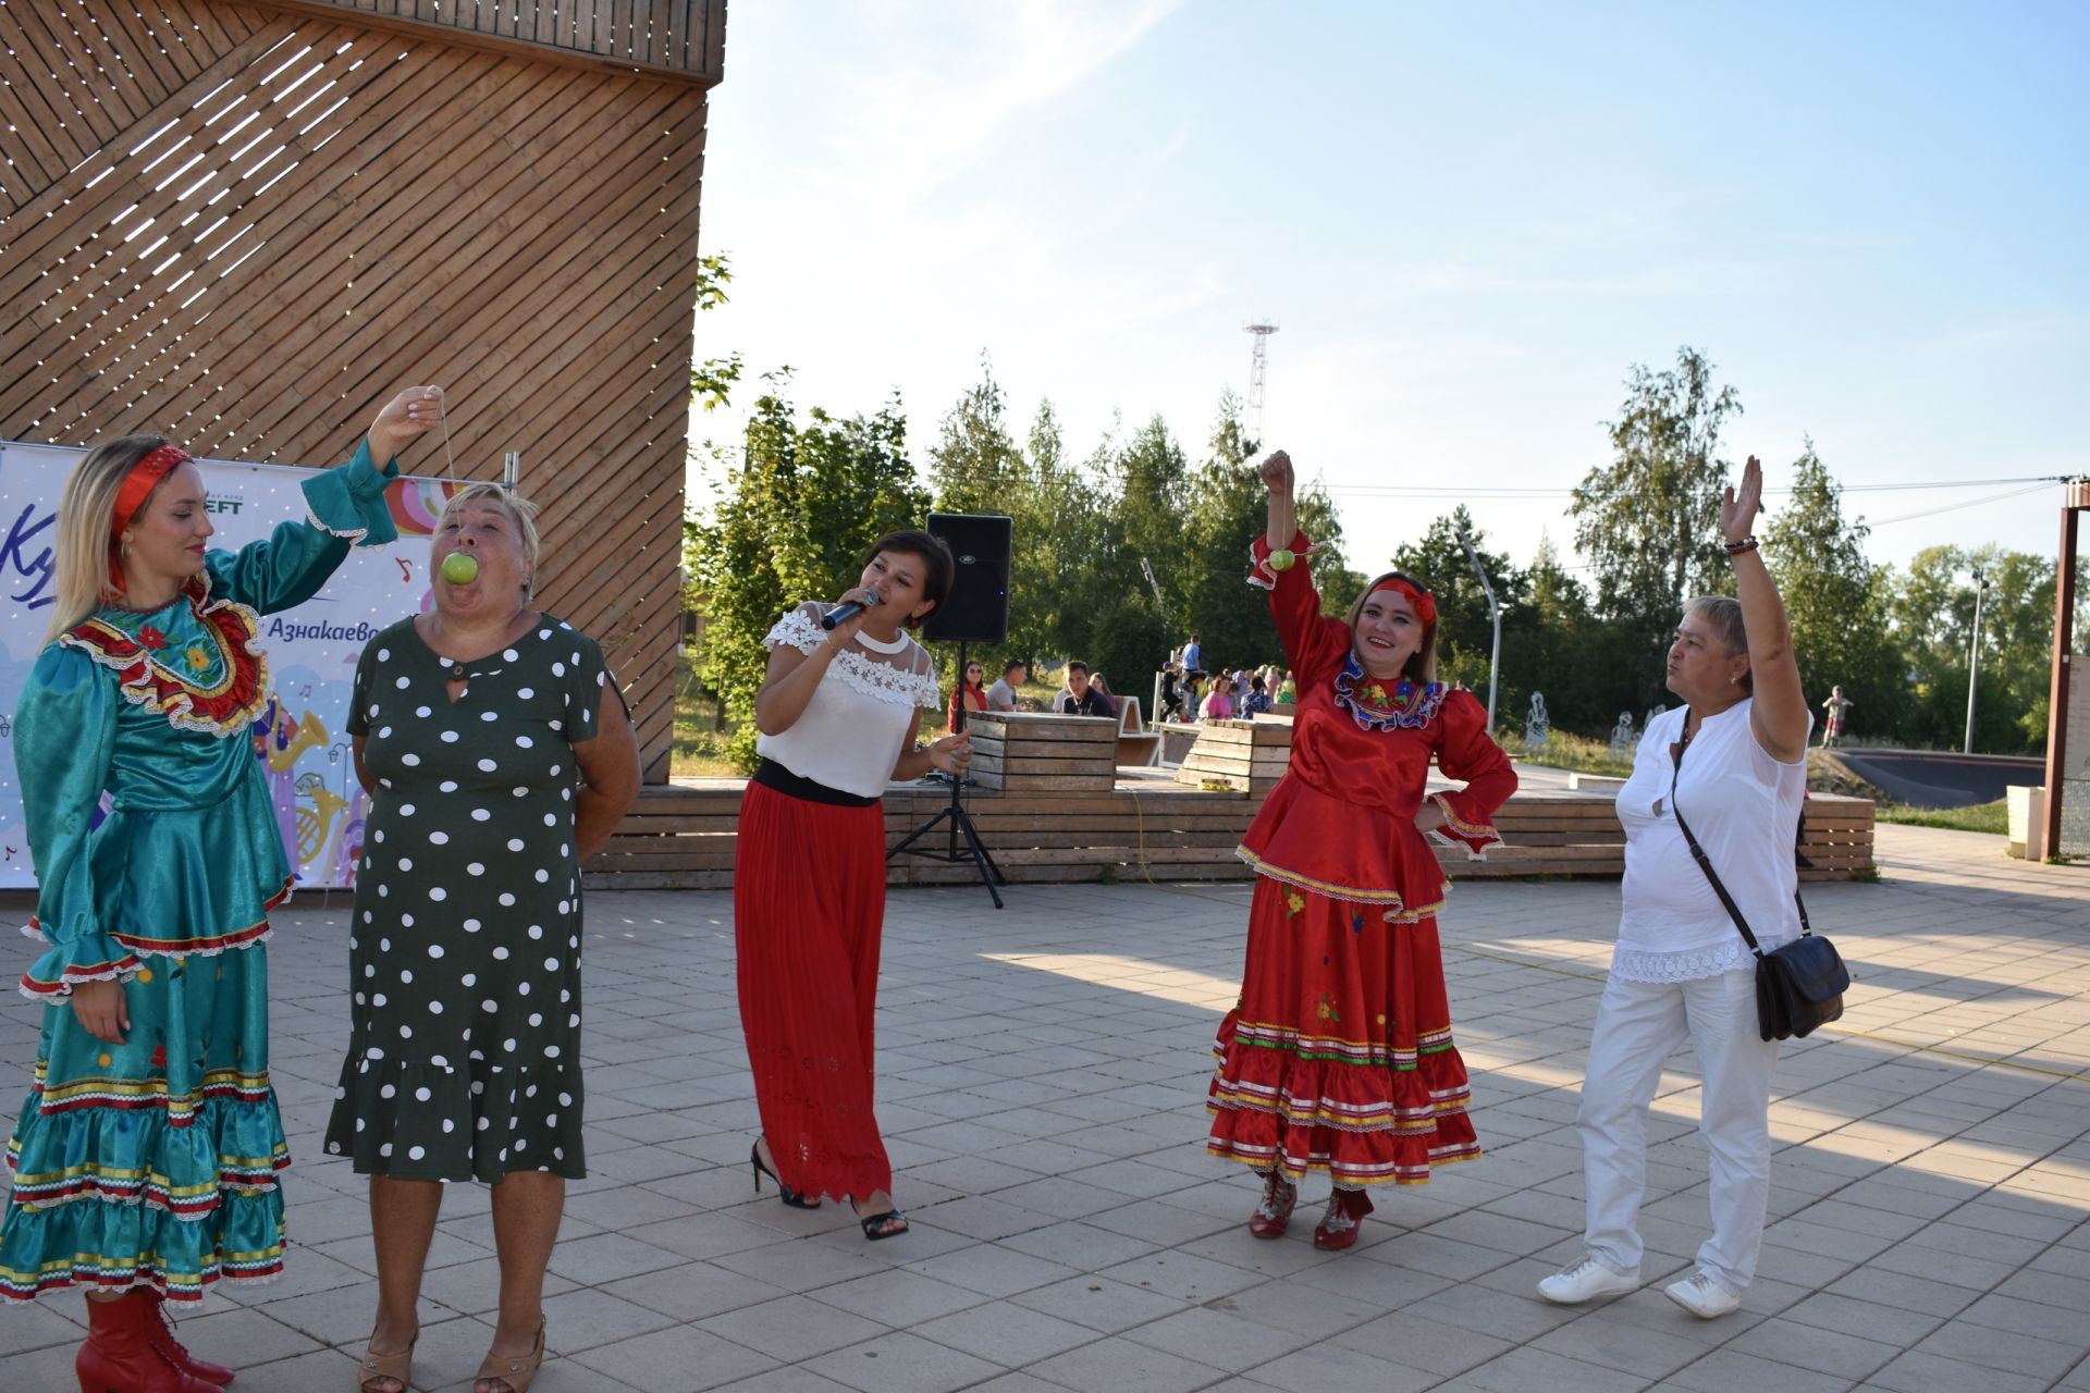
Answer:
[(1241, 1000), (1212, 1053), (1212, 1155), (1344, 1188), (1480, 1155), (1436, 917), (1386, 923), (1258, 877)]

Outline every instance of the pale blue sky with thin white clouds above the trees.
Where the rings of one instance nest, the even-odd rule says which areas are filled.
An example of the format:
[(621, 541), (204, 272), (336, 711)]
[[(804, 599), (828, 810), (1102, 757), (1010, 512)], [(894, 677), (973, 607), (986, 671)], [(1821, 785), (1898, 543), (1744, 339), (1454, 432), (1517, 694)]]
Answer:
[(1195, 455), (1273, 317), (1264, 436), (1371, 568), (1457, 501), (1404, 489), (1568, 549), (1547, 491), (1689, 343), (1772, 489), (1806, 434), (1983, 480), (1852, 493), (1875, 560), (2048, 553), (2054, 487), (1981, 499), (2090, 470), (2086, 56), (2084, 4), (736, 4), (698, 353), (897, 386), (920, 457), (984, 349), (1074, 453), (1160, 411)]

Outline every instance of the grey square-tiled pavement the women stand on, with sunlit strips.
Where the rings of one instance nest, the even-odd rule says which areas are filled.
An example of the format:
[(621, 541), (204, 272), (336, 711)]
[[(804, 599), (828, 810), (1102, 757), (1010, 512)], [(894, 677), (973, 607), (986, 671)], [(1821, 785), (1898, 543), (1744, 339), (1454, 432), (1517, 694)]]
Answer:
[[(596, 896), (594, 1176), (552, 1261), (537, 1389), (2090, 1391), (2090, 869), (2004, 860), (2000, 837), (1879, 840), (1885, 883), (1810, 894), (1858, 986), (1839, 1028), (1785, 1048), (1762, 1276), (1718, 1322), (1659, 1293), (1705, 1226), (1689, 1057), (1653, 1124), (1649, 1286), (1532, 1295), (1578, 1253), (1574, 1088), (1618, 886), (1457, 888), (1446, 969), (1490, 1153), (1384, 1195), (1346, 1255), (1313, 1251), (1317, 1205), (1250, 1238), (1252, 1178), (1200, 1149), (1246, 886), (1020, 886), (1003, 913), (895, 892), (880, 1119), (913, 1232), (888, 1243), (748, 1188), (729, 896)], [(182, 1326), (249, 1393), (351, 1387), (370, 1326), (362, 1184), (318, 1144), (343, 923), (339, 896), (303, 898), (272, 944), (291, 1270)], [(0, 1017), (8, 1105), (31, 1017)], [(460, 1184), (416, 1387), (470, 1387), (491, 1305), (487, 1193)], [(73, 1387), (77, 1314), (71, 1295), (0, 1312), (0, 1389)]]

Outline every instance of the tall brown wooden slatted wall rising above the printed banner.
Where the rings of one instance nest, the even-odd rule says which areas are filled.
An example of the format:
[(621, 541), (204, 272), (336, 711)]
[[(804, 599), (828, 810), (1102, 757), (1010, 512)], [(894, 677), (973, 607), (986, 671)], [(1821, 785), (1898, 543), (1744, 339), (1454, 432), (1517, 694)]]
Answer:
[(418, 2), (0, 0), (0, 436), (330, 464), (441, 382), (458, 476), (520, 451), (541, 601), (665, 779), (725, 4), (543, 4), (679, 17), (671, 73), (364, 15)]

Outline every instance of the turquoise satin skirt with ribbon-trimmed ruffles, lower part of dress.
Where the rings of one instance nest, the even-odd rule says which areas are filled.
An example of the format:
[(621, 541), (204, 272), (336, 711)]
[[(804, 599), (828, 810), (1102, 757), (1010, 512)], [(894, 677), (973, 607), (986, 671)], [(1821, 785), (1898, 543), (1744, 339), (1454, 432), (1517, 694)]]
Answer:
[(146, 957), (130, 1034), (96, 1040), (44, 1007), (36, 1080), (8, 1142), (0, 1295), (150, 1286), (196, 1301), (219, 1276), (282, 1272), (268, 1078), (268, 948)]

